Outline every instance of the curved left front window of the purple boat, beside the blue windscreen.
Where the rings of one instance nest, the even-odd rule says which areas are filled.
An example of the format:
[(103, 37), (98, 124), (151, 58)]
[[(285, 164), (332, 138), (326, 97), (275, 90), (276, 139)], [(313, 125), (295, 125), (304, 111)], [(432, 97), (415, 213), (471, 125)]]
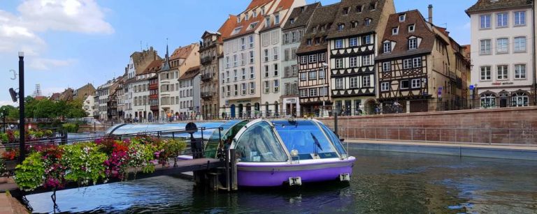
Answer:
[(266, 121), (248, 127), (236, 143), (237, 158), (242, 162), (286, 162), (287, 155)]

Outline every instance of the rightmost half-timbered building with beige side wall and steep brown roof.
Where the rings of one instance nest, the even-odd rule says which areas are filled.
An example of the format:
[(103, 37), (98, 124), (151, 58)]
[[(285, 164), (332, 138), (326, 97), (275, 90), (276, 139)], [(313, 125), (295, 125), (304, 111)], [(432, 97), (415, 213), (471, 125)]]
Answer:
[[(384, 113), (459, 109), (469, 63), (446, 29), (418, 10), (389, 16), (376, 57), (378, 101)], [(463, 79), (465, 78), (465, 79)]]

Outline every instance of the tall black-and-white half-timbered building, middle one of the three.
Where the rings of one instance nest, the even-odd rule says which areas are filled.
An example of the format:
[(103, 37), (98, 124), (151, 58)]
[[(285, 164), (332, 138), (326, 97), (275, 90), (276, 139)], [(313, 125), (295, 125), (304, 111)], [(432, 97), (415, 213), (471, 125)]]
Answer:
[(373, 114), (375, 56), (393, 0), (343, 0), (329, 30), (331, 98), (343, 115)]

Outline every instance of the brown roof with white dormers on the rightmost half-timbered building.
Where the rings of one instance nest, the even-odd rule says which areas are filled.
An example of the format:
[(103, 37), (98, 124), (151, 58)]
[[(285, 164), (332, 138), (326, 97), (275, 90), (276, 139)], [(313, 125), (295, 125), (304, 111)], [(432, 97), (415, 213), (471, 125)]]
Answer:
[[(399, 22), (399, 15), (403, 14), (406, 14), (405, 22)], [(408, 25), (410, 24), (415, 24), (414, 33), (408, 32)], [(392, 29), (397, 26), (399, 26), (399, 33), (397, 35), (392, 35)], [(441, 31), (442, 33), (443, 30), (445, 31), (445, 29), (438, 29), (438, 31)], [(408, 38), (410, 36), (422, 38), (422, 42), (417, 49), (408, 49)], [(382, 43), (384, 43), (386, 40), (396, 43), (396, 45), (392, 47), (392, 52), (384, 53)], [(382, 40), (380, 40), (380, 51), (375, 59), (381, 60), (392, 57), (429, 53), (433, 50), (435, 40), (436, 33), (432, 31), (431, 25), (425, 21), (420, 11), (410, 10), (404, 13), (394, 13), (389, 15), (384, 36), (382, 37)]]

